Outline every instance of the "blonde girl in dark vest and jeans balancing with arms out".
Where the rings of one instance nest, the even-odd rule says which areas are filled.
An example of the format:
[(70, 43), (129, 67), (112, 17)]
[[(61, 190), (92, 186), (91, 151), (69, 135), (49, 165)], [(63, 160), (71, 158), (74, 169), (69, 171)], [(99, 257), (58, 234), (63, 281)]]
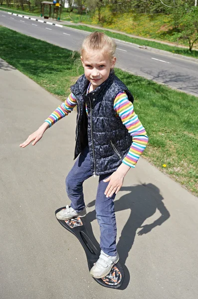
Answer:
[(27, 140), (20, 144), (34, 146), (43, 133), (68, 115), (77, 105), (77, 158), (66, 178), (66, 191), (71, 206), (56, 217), (61, 220), (84, 217), (86, 207), (82, 184), (90, 176), (98, 175), (96, 217), (100, 225), (101, 254), (90, 271), (95, 278), (103, 278), (118, 262), (116, 250), (116, 218), (114, 199), (124, 177), (135, 167), (146, 148), (148, 137), (133, 109), (133, 96), (114, 74), (115, 42), (100, 32), (85, 38), (81, 48), (84, 75), (71, 86), (71, 93)]

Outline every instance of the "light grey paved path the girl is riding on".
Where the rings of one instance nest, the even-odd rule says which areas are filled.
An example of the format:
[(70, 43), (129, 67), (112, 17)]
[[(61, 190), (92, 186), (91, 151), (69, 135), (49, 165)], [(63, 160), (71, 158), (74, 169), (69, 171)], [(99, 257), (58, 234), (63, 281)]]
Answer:
[[(123, 290), (98, 285), (54, 216), (69, 203), (76, 113), (21, 149), (60, 102), (2, 60), (0, 82), (0, 298), (197, 299), (198, 198), (141, 158), (115, 200)], [(96, 190), (97, 178), (85, 182), (86, 222), (99, 241)]]

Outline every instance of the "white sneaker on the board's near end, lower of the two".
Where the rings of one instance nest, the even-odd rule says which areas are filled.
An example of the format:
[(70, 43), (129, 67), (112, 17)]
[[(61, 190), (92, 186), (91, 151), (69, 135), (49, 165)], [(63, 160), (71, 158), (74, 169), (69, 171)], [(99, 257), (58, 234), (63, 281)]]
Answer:
[(94, 278), (103, 278), (107, 276), (110, 273), (112, 267), (118, 261), (119, 261), (118, 253), (115, 257), (111, 257), (101, 250), (99, 259), (90, 270), (91, 276), (93, 276)]

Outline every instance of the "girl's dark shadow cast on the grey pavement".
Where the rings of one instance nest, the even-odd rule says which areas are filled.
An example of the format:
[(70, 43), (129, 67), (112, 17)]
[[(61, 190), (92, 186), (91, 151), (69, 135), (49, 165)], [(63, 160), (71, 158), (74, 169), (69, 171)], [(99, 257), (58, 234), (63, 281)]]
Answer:
[[(170, 217), (170, 213), (163, 203), (164, 198), (160, 194), (160, 189), (152, 183), (122, 187), (120, 189), (120, 192), (122, 191), (129, 191), (129, 193), (121, 196), (119, 200), (115, 200), (114, 205), (115, 212), (123, 211), (126, 209), (131, 210), (128, 220), (123, 219), (123, 221), (126, 223), (117, 243), (120, 262), (122, 263), (125, 272), (125, 280), (123, 282), (121, 290), (125, 290), (130, 281), (130, 274), (127, 267), (125, 266), (125, 263), (133, 246), (137, 229), (141, 228), (141, 230), (138, 232), (139, 236), (147, 234), (153, 228), (165, 222)], [(92, 207), (94, 204), (95, 200), (87, 204), (87, 207)], [(157, 210), (159, 210), (161, 216), (153, 223), (143, 225), (144, 221), (154, 215)], [(95, 219), (95, 210), (89, 212), (85, 217), (86, 228), (90, 234), (90, 237), (92, 238), (94, 243), (98, 244), (93, 235), (91, 227), (91, 222)]]

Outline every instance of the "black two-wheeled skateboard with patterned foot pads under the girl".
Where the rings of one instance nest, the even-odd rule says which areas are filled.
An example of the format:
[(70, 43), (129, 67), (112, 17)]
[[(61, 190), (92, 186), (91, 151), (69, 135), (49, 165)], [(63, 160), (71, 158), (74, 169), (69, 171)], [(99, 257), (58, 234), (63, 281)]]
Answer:
[[(62, 209), (65, 209), (65, 207), (57, 209), (55, 214)], [(86, 229), (84, 217), (74, 217), (69, 220), (57, 220), (66, 230), (74, 234), (80, 241), (82, 247), (84, 248), (87, 257), (88, 268), (90, 271), (94, 263), (96, 263), (99, 259), (101, 249), (91, 240)], [(106, 277), (102, 279), (93, 277), (93, 279), (103, 287), (119, 289), (124, 281), (124, 270), (120, 262), (118, 262), (116, 265), (114, 265), (114, 267), (111, 269), (111, 272)]]

